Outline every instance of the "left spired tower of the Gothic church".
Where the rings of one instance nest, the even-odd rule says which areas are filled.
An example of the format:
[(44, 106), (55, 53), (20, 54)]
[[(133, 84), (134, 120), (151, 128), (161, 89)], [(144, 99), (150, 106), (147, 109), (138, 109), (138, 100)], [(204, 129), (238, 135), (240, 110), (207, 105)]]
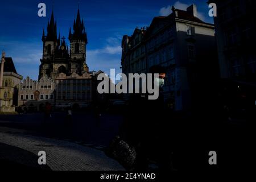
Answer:
[(51, 14), (51, 20), (47, 25), (47, 35), (43, 30), (43, 59), (41, 59), (41, 65), (39, 69), (39, 80), (41, 77), (47, 75), (53, 77), (53, 60), (57, 49), (60, 46), (60, 35), (57, 39), (57, 24), (54, 20), (53, 11)]

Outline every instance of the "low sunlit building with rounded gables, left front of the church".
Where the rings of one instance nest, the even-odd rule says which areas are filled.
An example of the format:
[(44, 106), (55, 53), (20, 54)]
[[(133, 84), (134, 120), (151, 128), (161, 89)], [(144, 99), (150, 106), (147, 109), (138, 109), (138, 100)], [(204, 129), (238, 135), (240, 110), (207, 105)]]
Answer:
[(19, 90), (18, 105), (28, 111), (44, 110), (46, 102), (55, 104), (55, 81), (44, 76), (39, 81), (24, 79), (17, 86)]

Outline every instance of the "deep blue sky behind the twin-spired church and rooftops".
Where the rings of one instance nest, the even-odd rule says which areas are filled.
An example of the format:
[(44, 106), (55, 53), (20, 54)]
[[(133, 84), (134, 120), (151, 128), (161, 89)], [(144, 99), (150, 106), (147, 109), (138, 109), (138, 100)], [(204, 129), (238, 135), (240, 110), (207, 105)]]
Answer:
[[(40, 2), (46, 3), (46, 17), (38, 16)], [(111, 68), (115, 68), (116, 72), (121, 72), (123, 35), (133, 34), (137, 26), (149, 26), (154, 16), (168, 15), (172, 5), (177, 9), (185, 9), (192, 3), (197, 5), (199, 18), (213, 23), (213, 19), (208, 16), (207, 0), (3, 1), (0, 11), (0, 49), (5, 49), (6, 56), (13, 57), (20, 75), (36, 80), (42, 58), (42, 31), (47, 28), (52, 4), (57, 31), (60, 31), (61, 37), (66, 38), (69, 27), (73, 26), (79, 4), (88, 35), (87, 64), (90, 71), (102, 70), (109, 73)]]

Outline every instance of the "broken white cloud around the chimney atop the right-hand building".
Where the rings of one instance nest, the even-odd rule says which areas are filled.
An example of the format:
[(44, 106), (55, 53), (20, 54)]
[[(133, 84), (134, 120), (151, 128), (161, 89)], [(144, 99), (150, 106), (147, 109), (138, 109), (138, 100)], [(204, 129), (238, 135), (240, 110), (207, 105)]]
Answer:
[[(189, 7), (189, 6), (191, 6), (191, 5), (186, 4), (186, 3), (182, 3), (182, 2), (180, 2), (180, 1), (176, 1), (176, 2), (174, 3), (174, 7), (175, 7), (176, 9), (179, 9), (179, 10), (184, 10), (184, 11), (185, 11), (185, 10), (187, 10), (187, 7)], [(170, 15), (170, 14), (172, 13), (171, 8), (172, 8), (171, 5), (169, 5), (169, 6), (167, 6), (167, 7), (162, 7), (162, 8), (160, 9), (160, 11), (159, 11), (160, 16), (168, 16), (168, 15)], [(199, 19), (201, 19), (201, 20), (203, 20), (203, 21), (205, 20), (204, 14), (201, 13), (201, 12), (199, 12), (199, 11), (197, 11), (197, 18), (199, 18)]]

